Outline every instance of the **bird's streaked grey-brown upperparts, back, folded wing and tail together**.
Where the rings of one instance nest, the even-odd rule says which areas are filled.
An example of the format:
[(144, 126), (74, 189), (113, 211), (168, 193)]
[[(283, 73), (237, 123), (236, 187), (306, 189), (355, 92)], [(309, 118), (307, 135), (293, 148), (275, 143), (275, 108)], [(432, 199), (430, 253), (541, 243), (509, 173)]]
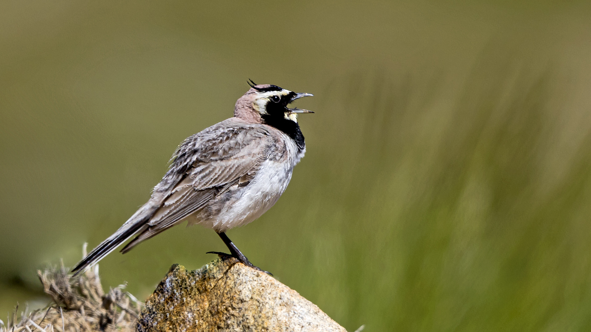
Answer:
[(84, 271), (129, 237), (138, 235), (122, 252), (202, 209), (240, 177), (254, 174), (273, 141), (263, 126), (236, 124), (233, 118), (190, 136), (177, 148), (150, 200), (82, 259), (73, 272)]

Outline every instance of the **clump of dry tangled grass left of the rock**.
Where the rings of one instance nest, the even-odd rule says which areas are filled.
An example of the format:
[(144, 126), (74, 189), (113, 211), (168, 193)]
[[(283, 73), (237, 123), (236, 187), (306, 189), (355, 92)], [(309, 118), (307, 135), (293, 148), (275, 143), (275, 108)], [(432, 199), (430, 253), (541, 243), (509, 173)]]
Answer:
[(0, 320), (0, 332), (134, 331), (142, 302), (123, 289), (105, 293), (100, 285), (99, 267), (70, 278), (69, 269), (38, 271), (43, 289), (50, 296), (47, 307), (17, 318), (18, 305), (7, 323)]

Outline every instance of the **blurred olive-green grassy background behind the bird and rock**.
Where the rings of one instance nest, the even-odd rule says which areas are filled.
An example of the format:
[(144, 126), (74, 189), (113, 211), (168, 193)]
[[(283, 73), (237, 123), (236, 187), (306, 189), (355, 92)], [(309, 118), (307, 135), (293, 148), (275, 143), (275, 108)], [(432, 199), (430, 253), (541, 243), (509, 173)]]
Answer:
[[(46, 304), (246, 79), (314, 93), (307, 154), (228, 234), (348, 330), (591, 330), (589, 1), (0, 2), (0, 318)], [(145, 298), (225, 250), (100, 262)]]

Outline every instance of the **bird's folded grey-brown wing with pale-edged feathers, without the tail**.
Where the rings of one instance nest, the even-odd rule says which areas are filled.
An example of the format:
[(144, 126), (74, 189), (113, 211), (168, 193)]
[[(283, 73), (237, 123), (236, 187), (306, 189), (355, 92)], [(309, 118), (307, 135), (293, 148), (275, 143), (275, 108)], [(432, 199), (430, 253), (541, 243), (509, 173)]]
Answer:
[(187, 141), (187, 147), (181, 145), (178, 149), (173, 163), (178, 160), (178, 165), (171, 165), (171, 168), (180, 167), (184, 170), (186, 167), (183, 165), (191, 163), (184, 170), (184, 178), (170, 191), (160, 209), (147, 223), (148, 227), (139, 232), (121, 252), (128, 252), (139, 242), (180, 223), (184, 217), (202, 209), (212, 198), (238, 184), (241, 177), (254, 176), (273, 138), (267, 129), (257, 126), (248, 131), (213, 135), (212, 140), (199, 144), (199, 149), (194, 149), (194, 139), (189, 138)]

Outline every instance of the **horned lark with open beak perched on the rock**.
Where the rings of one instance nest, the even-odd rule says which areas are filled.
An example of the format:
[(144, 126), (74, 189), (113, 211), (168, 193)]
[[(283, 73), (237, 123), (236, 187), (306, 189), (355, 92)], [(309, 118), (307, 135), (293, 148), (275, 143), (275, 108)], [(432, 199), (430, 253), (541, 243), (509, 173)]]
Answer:
[(73, 268), (76, 276), (135, 236), (138, 243), (187, 220), (219, 235), (232, 256), (253, 265), (228, 238), (226, 231), (250, 223), (269, 210), (291, 180), (294, 166), (306, 152), (297, 122), (301, 113), (288, 105), (311, 93), (296, 93), (273, 84), (248, 82), (250, 89), (236, 101), (232, 118), (189, 136), (174, 151), (162, 180), (150, 199), (113, 235)]

